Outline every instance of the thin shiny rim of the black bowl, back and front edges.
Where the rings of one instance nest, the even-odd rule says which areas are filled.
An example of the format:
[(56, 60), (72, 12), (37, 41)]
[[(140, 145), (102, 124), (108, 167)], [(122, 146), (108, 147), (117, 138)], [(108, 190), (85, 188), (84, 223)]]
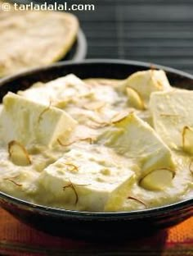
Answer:
[[(34, 75), (38, 71), (47, 71), (47, 70), (52, 70), (55, 67), (61, 67), (61, 66), (80, 66), (80, 65), (95, 65), (95, 64), (109, 64), (109, 65), (130, 65), (130, 66), (140, 66), (144, 68), (150, 68), (154, 67), (155, 69), (163, 69), (164, 71), (171, 72), (176, 75), (181, 75), (185, 76), (186, 78), (189, 78), (193, 80), (193, 75), (186, 73), (184, 71), (179, 71), (177, 69), (174, 69), (172, 67), (168, 66), (162, 66), (162, 65), (157, 65), (155, 63), (150, 63), (150, 62), (139, 62), (139, 61), (132, 61), (132, 60), (119, 60), (119, 59), (87, 59), (79, 62), (74, 62), (74, 61), (63, 61), (63, 62), (56, 62), (52, 65), (49, 66), (43, 66), (43, 67), (38, 67), (38, 68), (33, 68), (29, 69), (28, 71), (22, 71), (16, 75), (9, 75), (7, 77), (4, 77), (0, 79), (0, 86), (3, 86), (4, 84), (7, 84), (13, 80), (16, 80), (18, 78), (25, 77), (27, 75)], [(119, 217), (130, 217), (136, 218), (136, 217), (150, 217), (150, 216), (161, 216), (164, 214), (172, 213), (173, 211), (178, 211), (183, 208), (189, 208), (193, 207), (193, 198), (188, 198), (188, 199), (182, 199), (179, 202), (176, 203), (169, 203), (164, 206), (159, 206), (155, 208), (146, 208), (146, 209), (141, 209), (141, 210), (133, 210), (130, 212), (108, 212), (108, 213), (99, 213), (99, 212), (81, 212), (77, 210), (68, 210), (65, 208), (55, 208), (55, 207), (50, 207), (50, 206), (44, 206), (38, 203), (31, 203), (28, 201), (25, 201), (24, 199), (18, 199), (10, 194), (6, 194), (2, 191), (0, 191), (0, 203), (1, 199), (3, 201), (15, 204), (16, 206), (20, 207), (26, 207), (26, 208), (31, 208), (33, 209), (34, 212), (38, 211), (41, 213), (52, 213), (52, 215), (56, 216), (69, 216), (69, 217), (77, 217), (77, 218), (85, 218), (85, 217), (97, 217), (97, 218), (104, 218), (104, 217), (115, 217), (116, 219)]]

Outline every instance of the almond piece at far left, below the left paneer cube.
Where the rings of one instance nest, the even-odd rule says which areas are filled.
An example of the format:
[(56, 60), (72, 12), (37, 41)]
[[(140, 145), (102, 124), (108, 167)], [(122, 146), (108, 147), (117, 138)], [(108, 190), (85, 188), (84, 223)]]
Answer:
[(25, 147), (16, 140), (11, 140), (8, 144), (8, 153), (11, 162), (17, 166), (25, 167), (31, 164), (29, 153)]

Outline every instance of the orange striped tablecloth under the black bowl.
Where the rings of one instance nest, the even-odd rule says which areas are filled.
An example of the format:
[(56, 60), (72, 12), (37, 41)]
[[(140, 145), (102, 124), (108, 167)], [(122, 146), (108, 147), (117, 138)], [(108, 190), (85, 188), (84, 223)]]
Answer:
[(100, 245), (44, 234), (0, 208), (0, 255), (190, 256), (193, 255), (193, 217), (154, 237)]

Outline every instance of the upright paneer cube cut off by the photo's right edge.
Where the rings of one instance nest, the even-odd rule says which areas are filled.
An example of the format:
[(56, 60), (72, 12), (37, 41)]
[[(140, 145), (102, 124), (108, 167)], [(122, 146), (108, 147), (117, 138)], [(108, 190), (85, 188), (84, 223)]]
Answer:
[(193, 153), (193, 91), (156, 92), (150, 112), (155, 130), (170, 148)]

